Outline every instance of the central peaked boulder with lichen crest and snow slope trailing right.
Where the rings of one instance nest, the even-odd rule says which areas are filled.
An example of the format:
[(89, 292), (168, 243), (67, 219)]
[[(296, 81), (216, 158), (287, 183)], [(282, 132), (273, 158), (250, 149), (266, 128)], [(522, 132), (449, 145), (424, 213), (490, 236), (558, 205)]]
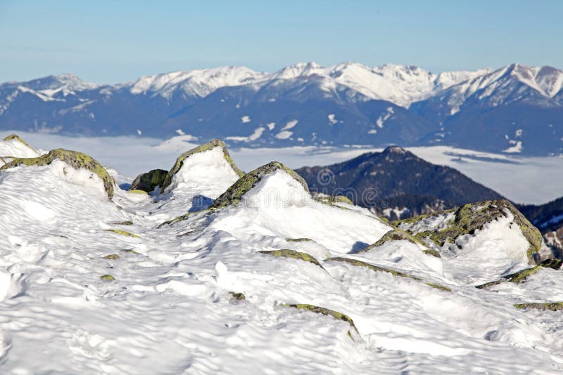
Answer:
[[(217, 209), (213, 230), (230, 232), (239, 239), (257, 234), (307, 239), (310, 242), (300, 246), (322, 246), (335, 254), (362, 249), (392, 229), (366, 209), (318, 202), (303, 178), (279, 162), (246, 173), (210, 208)], [(284, 246), (293, 249), (296, 244)]]

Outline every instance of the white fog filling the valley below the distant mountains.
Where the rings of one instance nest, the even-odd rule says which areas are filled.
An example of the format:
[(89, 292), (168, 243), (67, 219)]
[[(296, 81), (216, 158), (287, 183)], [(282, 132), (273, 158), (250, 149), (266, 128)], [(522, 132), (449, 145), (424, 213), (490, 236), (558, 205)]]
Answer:
[[(4, 138), (14, 131), (0, 131)], [(63, 147), (90, 154), (101, 164), (131, 182), (139, 173), (151, 169), (170, 169), (176, 157), (197, 145), (189, 135), (168, 140), (142, 137), (68, 137), (44, 133), (17, 132), (29, 143), (44, 150)], [(418, 157), (438, 165), (450, 166), (501, 195), (521, 204), (543, 204), (561, 196), (563, 157), (518, 157), (448, 146), (406, 147)], [(230, 151), (243, 171), (277, 160), (296, 169), (301, 166), (329, 165), (352, 159), (364, 152), (382, 148), (280, 147), (235, 148)]]

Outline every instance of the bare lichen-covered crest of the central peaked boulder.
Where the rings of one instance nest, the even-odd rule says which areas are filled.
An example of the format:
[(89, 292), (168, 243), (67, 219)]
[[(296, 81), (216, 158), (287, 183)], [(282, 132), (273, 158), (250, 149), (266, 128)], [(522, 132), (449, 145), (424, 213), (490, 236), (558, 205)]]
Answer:
[(263, 165), (246, 173), (242, 178), (236, 181), (226, 192), (224, 192), (220, 197), (215, 199), (215, 202), (210, 206), (212, 209), (219, 209), (224, 206), (232, 206), (241, 202), (243, 195), (246, 194), (249, 190), (251, 190), (262, 178), (267, 175), (274, 173), (275, 171), (285, 171), (289, 174), (289, 176), (293, 177), (300, 183), (303, 188), (309, 192), (309, 187), (305, 180), (301, 176), (299, 176), (295, 171), (289, 169), (288, 167), (284, 166), (280, 162), (270, 162), (269, 164)]

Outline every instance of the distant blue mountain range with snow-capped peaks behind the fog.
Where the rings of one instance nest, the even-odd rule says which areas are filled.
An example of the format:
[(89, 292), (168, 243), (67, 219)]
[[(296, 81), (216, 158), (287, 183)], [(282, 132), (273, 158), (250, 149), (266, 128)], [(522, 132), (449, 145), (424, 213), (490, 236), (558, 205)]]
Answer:
[(0, 129), (245, 146), (429, 145), (563, 152), (563, 71), (512, 64), (433, 74), (415, 66), (298, 63), (157, 74), (98, 85), (72, 74), (0, 85)]

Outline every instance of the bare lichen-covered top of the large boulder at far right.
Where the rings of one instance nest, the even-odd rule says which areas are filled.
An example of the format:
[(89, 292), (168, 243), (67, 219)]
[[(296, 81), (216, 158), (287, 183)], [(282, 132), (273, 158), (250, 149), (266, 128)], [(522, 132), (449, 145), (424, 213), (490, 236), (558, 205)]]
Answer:
[[(512, 216), (514, 216), (514, 225), (518, 225), (522, 234), (528, 240), (529, 249), (526, 255), (529, 261), (534, 263), (532, 254), (539, 251), (542, 235), (538, 228), (534, 227), (528, 219), (506, 199), (464, 204), (455, 211), (454, 219), (447, 228), (433, 231), (428, 237), (438, 244), (438, 246), (443, 246), (446, 243), (453, 244), (457, 237), (472, 235), (476, 230), (483, 229), (483, 226), (487, 223), (491, 223), (501, 217), (506, 217), (506, 211), (512, 213)], [(414, 218), (410, 220), (412, 220), (410, 223), (416, 223)], [(422, 218), (418, 220), (422, 220)]]

